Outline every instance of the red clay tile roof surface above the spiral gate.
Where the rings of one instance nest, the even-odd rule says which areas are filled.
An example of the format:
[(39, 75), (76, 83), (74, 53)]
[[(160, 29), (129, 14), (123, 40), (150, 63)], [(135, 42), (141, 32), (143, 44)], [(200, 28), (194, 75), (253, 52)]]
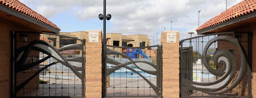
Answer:
[(256, 12), (256, 0), (243, 0), (240, 3), (229, 8), (228, 10), (215, 16), (208, 22), (204, 23), (199, 28), (197, 28), (196, 31), (207, 29), (208, 27), (212, 27), (217, 24), (227, 22), (229, 20), (238, 18), (238, 17), (246, 15), (246, 14), (250, 14), (252, 12)]

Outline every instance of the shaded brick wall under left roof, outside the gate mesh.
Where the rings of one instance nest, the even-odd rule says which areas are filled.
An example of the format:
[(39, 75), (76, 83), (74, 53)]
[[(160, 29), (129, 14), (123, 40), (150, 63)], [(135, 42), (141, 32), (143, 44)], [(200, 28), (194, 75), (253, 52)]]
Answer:
[(11, 31), (36, 31), (0, 18), (0, 97), (10, 97)]

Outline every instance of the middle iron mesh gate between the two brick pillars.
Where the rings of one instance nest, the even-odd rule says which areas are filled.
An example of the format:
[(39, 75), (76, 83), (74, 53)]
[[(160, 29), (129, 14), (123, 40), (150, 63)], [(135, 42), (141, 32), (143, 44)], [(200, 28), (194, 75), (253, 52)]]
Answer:
[(162, 46), (107, 45), (106, 97), (162, 97)]

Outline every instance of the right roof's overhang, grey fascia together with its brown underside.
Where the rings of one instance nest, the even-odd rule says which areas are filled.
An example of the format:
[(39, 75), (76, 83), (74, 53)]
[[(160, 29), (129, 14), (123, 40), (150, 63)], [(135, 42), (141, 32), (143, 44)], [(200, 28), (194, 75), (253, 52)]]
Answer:
[(215, 26), (211, 26), (206, 29), (197, 31), (197, 34), (200, 35), (200, 34), (218, 33), (230, 27), (239, 26), (245, 23), (252, 23), (253, 22), (252, 20), (256, 20), (255, 17), (256, 17), (256, 12), (253, 12), (251, 14), (246, 14), (238, 18), (231, 19), (227, 22), (223, 22)]

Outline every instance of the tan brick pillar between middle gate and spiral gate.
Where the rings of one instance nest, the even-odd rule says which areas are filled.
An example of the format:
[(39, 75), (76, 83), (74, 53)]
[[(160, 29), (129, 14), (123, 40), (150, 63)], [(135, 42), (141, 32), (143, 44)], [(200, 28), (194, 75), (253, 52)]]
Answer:
[(164, 30), (163, 46), (163, 97), (179, 98), (179, 31)]

